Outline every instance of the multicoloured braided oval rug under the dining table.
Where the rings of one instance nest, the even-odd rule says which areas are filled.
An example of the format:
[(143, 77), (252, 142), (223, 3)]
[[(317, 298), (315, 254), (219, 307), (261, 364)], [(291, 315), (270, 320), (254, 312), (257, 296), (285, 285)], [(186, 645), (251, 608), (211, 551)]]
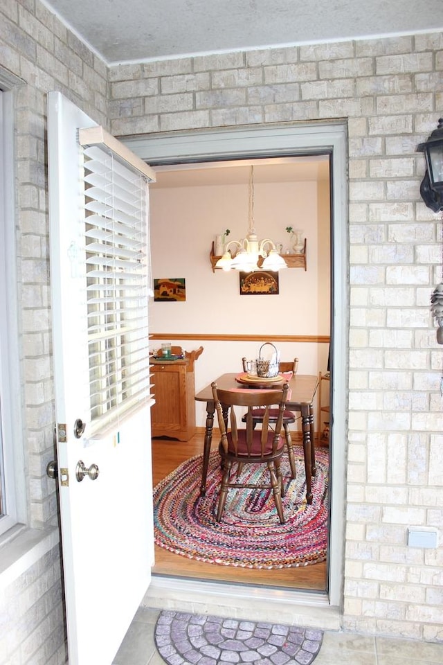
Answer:
[[(306, 503), (302, 448), (294, 447), (297, 477), (287, 481), (280, 524), (271, 490), (228, 490), (221, 522), (217, 500), (221, 481), (218, 452), (210, 454), (206, 495), (199, 494), (202, 456), (183, 462), (154, 488), (154, 538), (159, 547), (207, 563), (244, 568), (291, 568), (326, 558), (328, 453), (316, 449), (317, 475), (312, 478), (312, 504)], [(287, 456), (284, 479), (291, 477)], [(266, 465), (246, 464), (242, 480), (264, 477)]]

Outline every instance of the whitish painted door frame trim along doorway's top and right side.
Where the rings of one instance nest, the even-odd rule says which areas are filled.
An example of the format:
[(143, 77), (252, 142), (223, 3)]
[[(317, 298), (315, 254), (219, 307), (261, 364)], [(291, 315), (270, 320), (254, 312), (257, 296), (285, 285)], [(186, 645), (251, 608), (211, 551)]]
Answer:
[[(347, 224), (347, 125), (345, 121), (329, 123), (300, 123), (297, 125), (262, 125), (228, 130), (196, 130), (172, 134), (150, 134), (120, 139), (138, 157), (152, 166), (179, 164), (189, 161), (213, 161), (246, 157), (284, 156), (294, 154), (332, 154), (332, 332), (334, 344), (331, 357), (334, 367), (333, 410), (331, 447), (331, 528), (329, 544), (329, 605), (335, 614), (343, 602), (344, 544), (345, 544), (345, 477), (347, 452), (347, 331), (349, 329), (349, 296), (347, 285), (348, 224)], [(154, 577), (152, 589), (155, 588)], [(207, 589), (208, 583), (203, 588)], [(174, 589), (185, 586), (175, 580)], [(165, 587), (167, 589), (168, 587)], [(242, 598), (251, 610), (251, 588), (236, 587), (236, 607)], [(239, 591), (238, 589), (242, 589)], [(149, 592), (150, 597), (152, 590)], [(273, 602), (275, 592), (262, 590), (262, 598)], [(169, 597), (169, 596), (168, 596)], [(219, 596), (221, 600), (221, 596)], [(292, 608), (306, 607), (306, 594), (290, 593)], [(167, 598), (163, 596), (163, 601)], [(217, 608), (217, 594), (215, 594)], [(173, 599), (172, 599), (173, 602)], [(260, 603), (262, 604), (262, 603)]]

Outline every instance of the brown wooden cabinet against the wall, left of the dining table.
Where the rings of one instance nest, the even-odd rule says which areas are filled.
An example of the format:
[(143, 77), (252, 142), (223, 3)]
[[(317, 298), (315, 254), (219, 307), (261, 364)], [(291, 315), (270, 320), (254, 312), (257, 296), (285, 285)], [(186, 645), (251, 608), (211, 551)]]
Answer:
[[(203, 351), (203, 347), (200, 349)], [(194, 363), (201, 353), (200, 349), (186, 353), (183, 360), (151, 360), (155, 399), (151, 409), (153, 438), (170, 436), (179, 441), (189, 441), (194, 436)]]

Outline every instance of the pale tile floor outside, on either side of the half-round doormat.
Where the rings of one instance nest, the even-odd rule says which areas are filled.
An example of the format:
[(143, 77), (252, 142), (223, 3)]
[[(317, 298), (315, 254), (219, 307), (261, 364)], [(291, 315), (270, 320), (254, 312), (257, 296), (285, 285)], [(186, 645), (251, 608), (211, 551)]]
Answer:
[[(154, 642), (159, 614), (159, 610), (138, 610), (113, 665), (165, 665)], [(314, 665), (344, 664), (442, 665), (443, 644), (325, 631)]]

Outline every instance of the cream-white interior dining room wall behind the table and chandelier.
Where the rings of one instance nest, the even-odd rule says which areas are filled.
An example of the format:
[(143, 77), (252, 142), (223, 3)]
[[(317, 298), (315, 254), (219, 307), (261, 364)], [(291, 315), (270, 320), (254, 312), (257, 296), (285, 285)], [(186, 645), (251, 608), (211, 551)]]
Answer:
[[(323, 189), (323, 199), (329, 203)], [(282, 270), (280, 292), (272, 296), (241, 296), (239, 274), (212, 270), (210, 247), (217, 233), (230, 229), (230, 239), (248, 229), (248, 186), (151, 188), (152, 274), (154, 278), (184, 277), (186, 302), (152, 303), (153, 333), (185, 335), (329, 335), (329, 206), (323, 206), (318, 238), (318, 186), (301, 183), (255, 184), (255, 227), (259, 238), (289, 247), (285, 227), (303, 229), (307, 238), (307, 271)], [(319, 257), (323, 258), (320, 261)], [(321, 275), (321, 280), (319, 279)], [(325, 284), (325, 274), (328, 278)], [(320, 314), (319, 314), (320, 313)], [(196, 389), (224, 372), (241, 371), (241, 358), (255, 358), (260, 342), (174, 340), (191, 351), (204, 346), (195, 366)], [(152, 348), (159, 346), (153, 342)], [(282, 360), (300, 357), (299, 372), (325, 371), (327, 344), (278, 342)], [(266, 349), (268, 350), (268, 349)], [(204, 427), (204, 405), (197, 405), (197, 426)]]

